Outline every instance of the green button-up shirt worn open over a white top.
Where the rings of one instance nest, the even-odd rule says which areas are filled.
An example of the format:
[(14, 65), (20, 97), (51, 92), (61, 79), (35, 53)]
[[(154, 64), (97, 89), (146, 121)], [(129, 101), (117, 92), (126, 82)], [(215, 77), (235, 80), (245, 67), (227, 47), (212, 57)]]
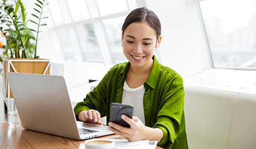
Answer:
[[(149, 78), (144, 83), (143, 108), (145, 124), (158, 127), (164, 137), (158, 146), (164, 148), (188, 148), (184, 117), (183, 80), (176, 71), (161, 65), (155, 56)], [(110, 104), (121, 103), (124, 81), (130, 62), (112, 67), (100, 84), (86, 95), (84, 102), (74, 108), (75, 115), (81, 111), (95, 109), (109, 122)]]

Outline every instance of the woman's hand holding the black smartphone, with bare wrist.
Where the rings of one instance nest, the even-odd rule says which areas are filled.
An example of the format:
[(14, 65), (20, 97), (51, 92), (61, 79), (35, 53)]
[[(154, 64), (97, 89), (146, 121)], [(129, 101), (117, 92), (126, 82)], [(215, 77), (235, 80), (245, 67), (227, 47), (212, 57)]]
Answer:
[(145, 126), (138, 117), (132, 117), (131, 119), (126, 115), (122, 115), (121, 118), (130, 124), (130, 128), (109, 122), (109, 130), (116, 133), (117, 135), (123, 136), (128, 141), (149, 139), (160, 142), (164, 136), (164, 133), (161, 129)]

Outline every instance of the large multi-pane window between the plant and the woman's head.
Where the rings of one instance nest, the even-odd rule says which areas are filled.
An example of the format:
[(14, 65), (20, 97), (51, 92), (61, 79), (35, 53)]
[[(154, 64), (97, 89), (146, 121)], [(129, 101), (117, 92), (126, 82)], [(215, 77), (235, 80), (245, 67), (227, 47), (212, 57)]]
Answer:
[[(144, 0), (139, 0), (144, 1)], [(63, 60), (116, 64), (127, 61), (121, 26), (136, 0), (52, 0), (49, 31)], [(56, 44), (58, 44), (56, 46)]]

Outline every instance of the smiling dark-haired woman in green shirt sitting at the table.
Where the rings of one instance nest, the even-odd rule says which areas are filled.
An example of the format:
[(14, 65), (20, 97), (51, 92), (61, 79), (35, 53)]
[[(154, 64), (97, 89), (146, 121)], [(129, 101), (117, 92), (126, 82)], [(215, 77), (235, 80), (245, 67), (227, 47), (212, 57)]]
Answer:
[[(181, 76), (159, 64), (154, 51), (161, 43), (161, 23), (147, 8), (137, 8), (122, 27), (123, 52), (129, 62), (111, 68), (100, 84), (74, 108), (78, 120), (102, 124), (129, 141), (154, 140), (164, 148), (188, 148)], [(132, 104), (130, 128), (109, 122), (110, 103)]]

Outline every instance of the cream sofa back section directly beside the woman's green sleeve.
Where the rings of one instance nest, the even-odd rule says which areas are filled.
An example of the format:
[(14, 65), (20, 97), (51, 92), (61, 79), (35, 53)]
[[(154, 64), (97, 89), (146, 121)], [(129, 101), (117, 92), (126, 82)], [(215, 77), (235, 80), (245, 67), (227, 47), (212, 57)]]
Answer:
[(189, 148), (226, 148), (237, 93), (184, 87)]

